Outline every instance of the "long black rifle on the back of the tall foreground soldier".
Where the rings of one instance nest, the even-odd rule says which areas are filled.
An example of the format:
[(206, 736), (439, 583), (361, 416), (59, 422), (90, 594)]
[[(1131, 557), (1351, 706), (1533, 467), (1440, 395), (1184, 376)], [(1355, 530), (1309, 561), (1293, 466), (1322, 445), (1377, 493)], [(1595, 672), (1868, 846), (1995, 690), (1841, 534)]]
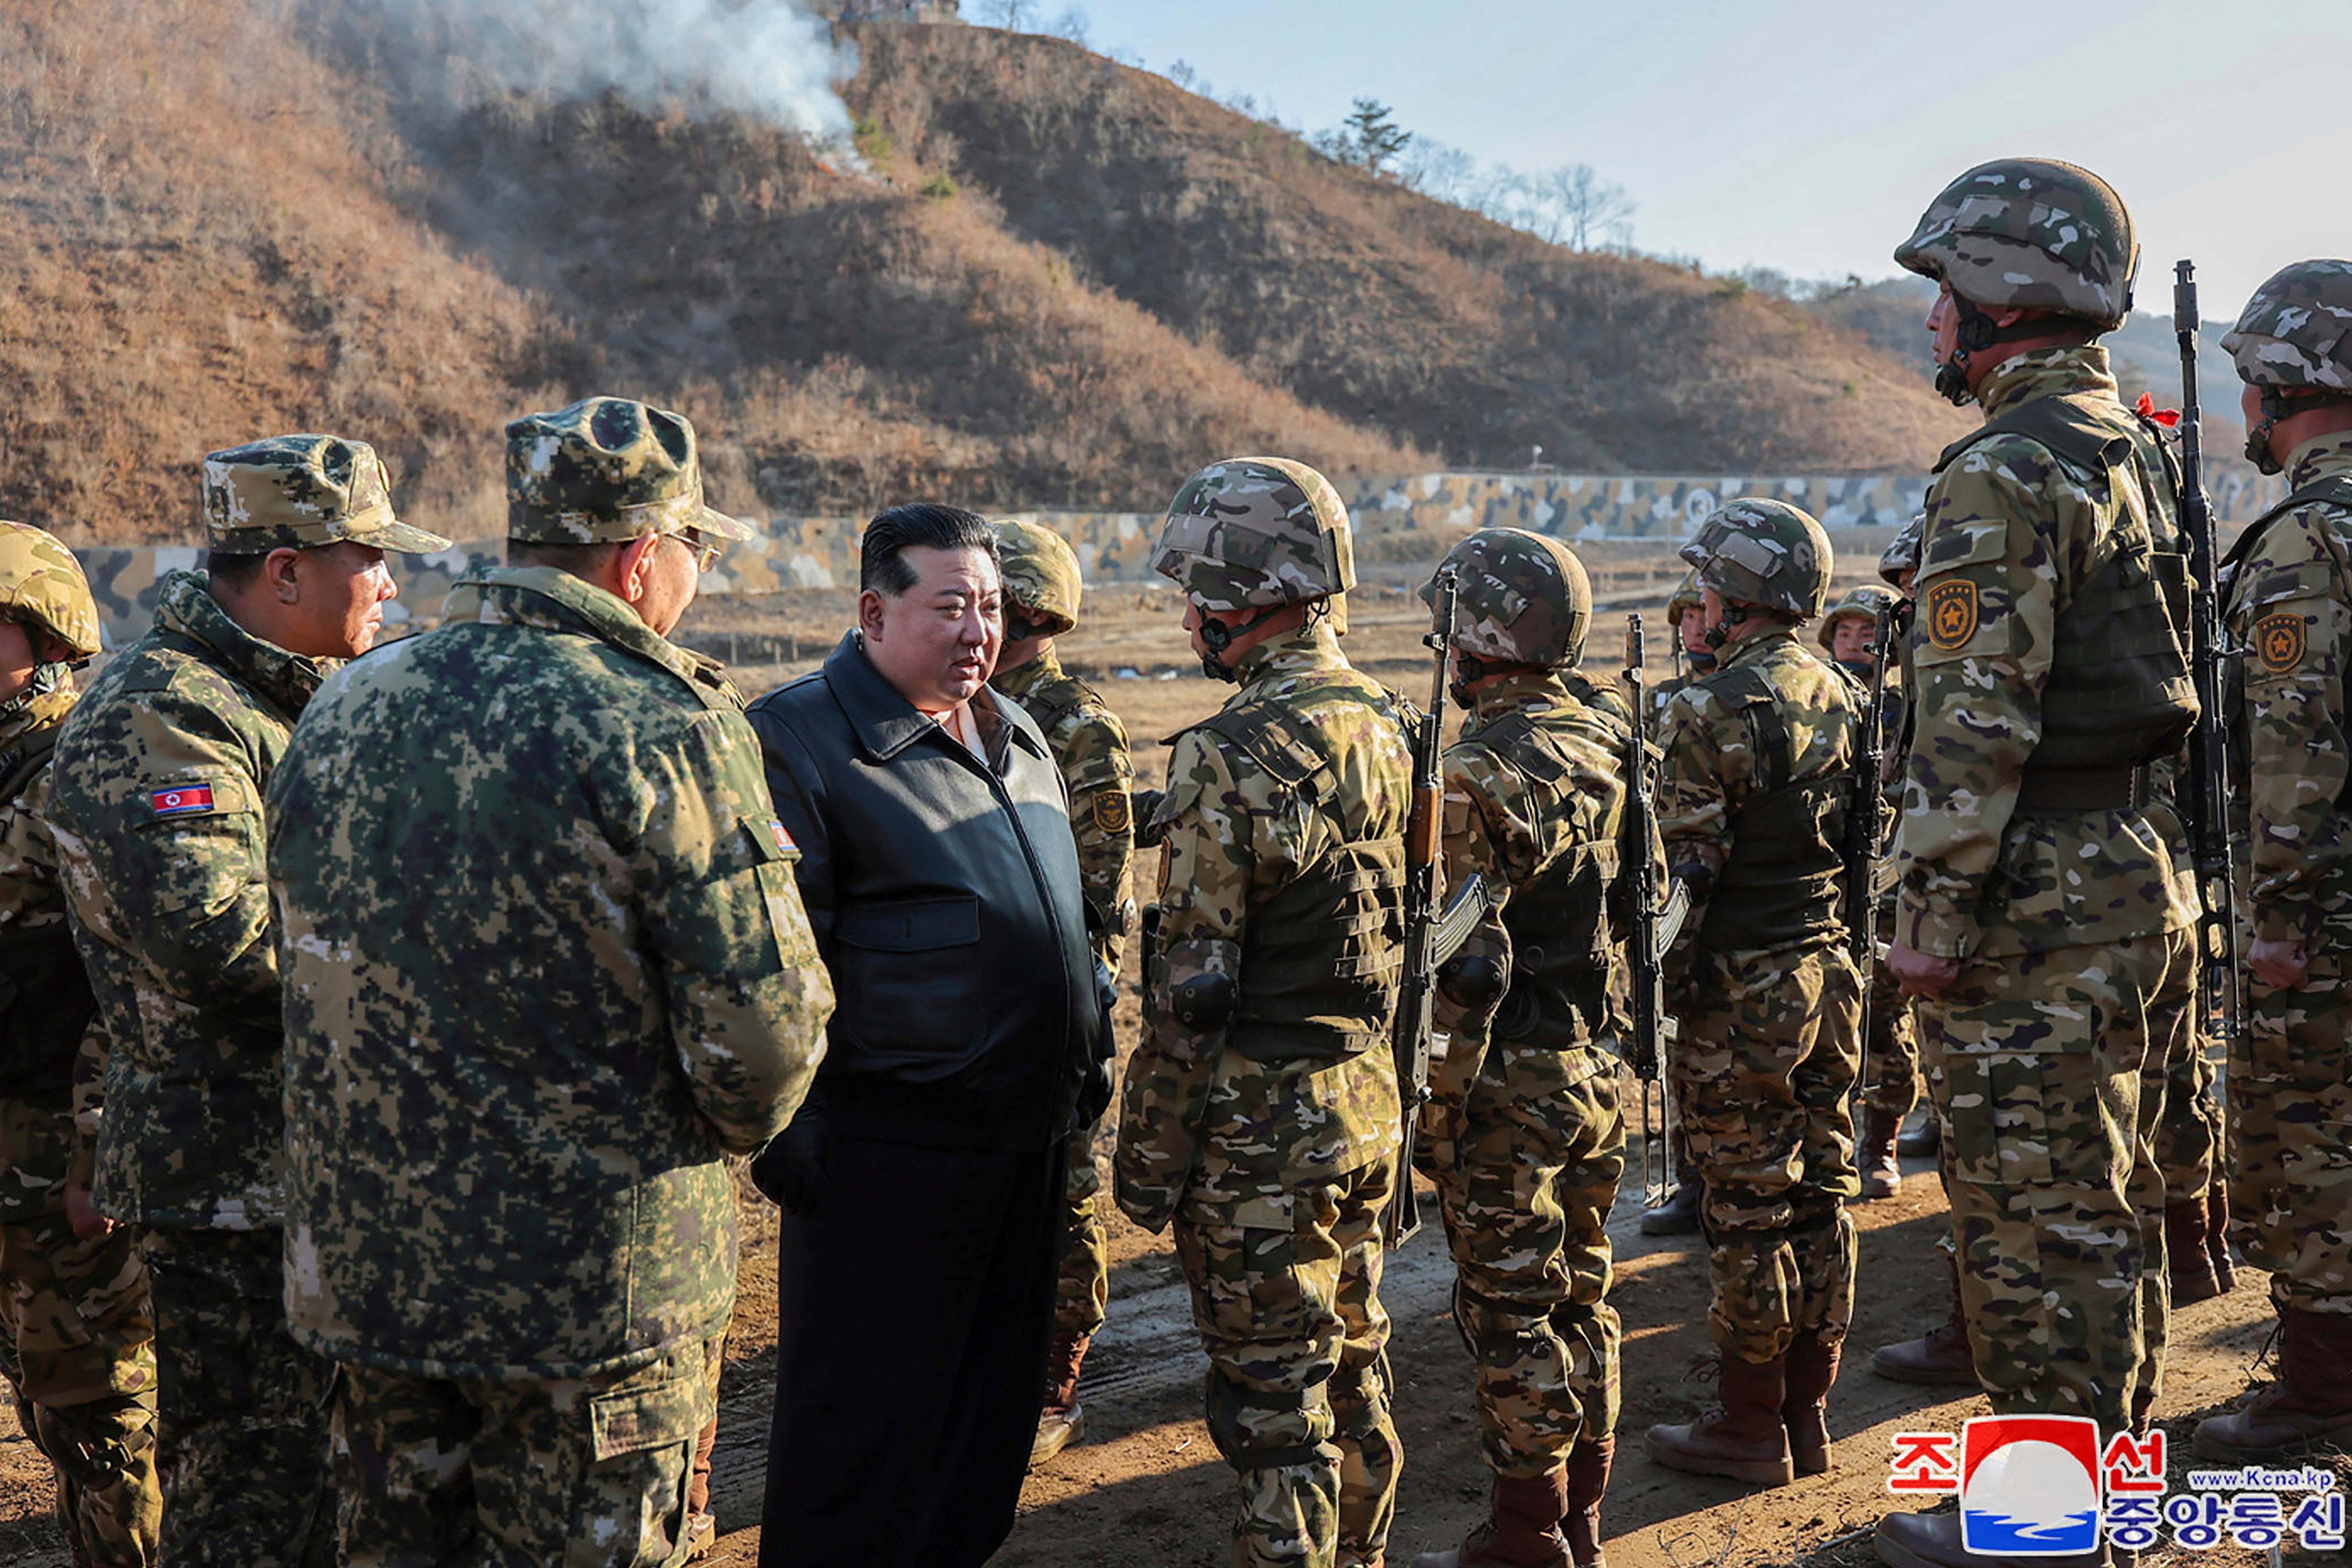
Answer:
[(2230, 738), (2223, 731), (2220, 607), (2213, 595), (2213, 508), (2204, 494), (2197, 428), (2197, 263), (2173, 266), (2173, 339), (2180, 343), (2180, 527), (2190, 543), (2190, 863), (2197, 867), (2197, 1006), (2213, 1039), (2237, 1039), (2237, 907), (2230, 872)]

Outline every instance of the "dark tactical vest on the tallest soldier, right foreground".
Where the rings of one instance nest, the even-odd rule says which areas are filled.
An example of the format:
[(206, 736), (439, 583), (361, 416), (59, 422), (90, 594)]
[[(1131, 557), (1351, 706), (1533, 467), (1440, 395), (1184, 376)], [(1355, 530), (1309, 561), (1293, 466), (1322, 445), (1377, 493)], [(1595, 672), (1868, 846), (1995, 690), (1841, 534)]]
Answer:
[[(1992, 435), (2025, 435), (2079, 473), (2103, 475), (2110, 496), (2136, 484), (2147, 512), (2147, 520), (2133, 520), (2124, 510), (2119, 527), (2098, 538), (2072, 602), (2058, 611), (2051, 672), (2042, 686), (2042, 743), (2025, 764), (2020, 811), (2129, 806), (2145, 790), (2131, 771), (2178, 752), (2197, 724), (2183, 635), (2190, 623), (2187, 557), (2157, 548), (2150, 531), (2157, 487), (2133, 437), (2133, 416), (2122, 421), (2129, 423), (2065, 397), (2039, 397), (1945, 447), (1936, 463), (1943, 473)], [(2166, 487), (2178, 489), (2171, 456), (2159, 461)]]

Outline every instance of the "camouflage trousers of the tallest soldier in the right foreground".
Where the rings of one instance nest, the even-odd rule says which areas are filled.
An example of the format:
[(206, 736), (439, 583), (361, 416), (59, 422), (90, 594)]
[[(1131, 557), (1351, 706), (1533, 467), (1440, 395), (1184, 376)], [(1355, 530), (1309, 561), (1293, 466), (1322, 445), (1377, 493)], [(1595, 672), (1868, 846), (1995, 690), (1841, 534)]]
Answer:
[(2143, 1218), (2161, 1213), (2164, 1178), (2143, 1093), (2164, 1048), (2152, 1004), (2185, 952), (2185, 933), (2159, 933), (1978, 959), (1919, 1004), (1959, 1298), (1994, 1415), (2117, 1432), (2154, 1399), (2164, 1227)]

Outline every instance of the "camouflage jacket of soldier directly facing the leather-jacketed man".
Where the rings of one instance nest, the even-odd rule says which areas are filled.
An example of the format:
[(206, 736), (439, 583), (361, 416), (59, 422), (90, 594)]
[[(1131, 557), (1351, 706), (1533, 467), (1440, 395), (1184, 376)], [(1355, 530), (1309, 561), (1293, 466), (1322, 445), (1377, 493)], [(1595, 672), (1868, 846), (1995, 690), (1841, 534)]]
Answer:
[(1395, 1159), (1402, 1140), (1385, 1048), (1261, 1063), (1228, 1048), (1223, 1027), (1190, 1030), (1167, 1006), (1169, 987), (1200, 973), (1247, 990), (1251, 910), (1338, 844), (1402, 832), (1411, 811), (1411, 748), (1390, 698), (1348, 665), (1329, 625), (1249, 649), (1237, 672), (1225, 712), (1279, 703), (1334, 736), (1341, 788), (1317, 811), (1218, 736), (1176, 738), (1160, 806), (1160, 929), (1115, 1164), (1120, 1208), (1148, 1229), (1178, 1204), (1230, 1208)]

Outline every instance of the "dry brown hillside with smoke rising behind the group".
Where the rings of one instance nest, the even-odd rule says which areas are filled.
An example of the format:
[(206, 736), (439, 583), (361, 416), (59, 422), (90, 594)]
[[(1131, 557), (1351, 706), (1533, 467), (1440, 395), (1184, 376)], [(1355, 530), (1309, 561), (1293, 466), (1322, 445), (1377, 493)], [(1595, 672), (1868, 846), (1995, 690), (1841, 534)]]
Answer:
[(1049, 38), (854, 31), (870, 174), (741, 115), (409, 94), (339, 0), (0, 0), (0, 512), (188, 538), (195, 458), (374, 440), (499, 531), (499, 423), (673, 402), (717, 501), (1155, 508), (1334, 470), (1915, 465), (1877, 350), (1573, 256)]

